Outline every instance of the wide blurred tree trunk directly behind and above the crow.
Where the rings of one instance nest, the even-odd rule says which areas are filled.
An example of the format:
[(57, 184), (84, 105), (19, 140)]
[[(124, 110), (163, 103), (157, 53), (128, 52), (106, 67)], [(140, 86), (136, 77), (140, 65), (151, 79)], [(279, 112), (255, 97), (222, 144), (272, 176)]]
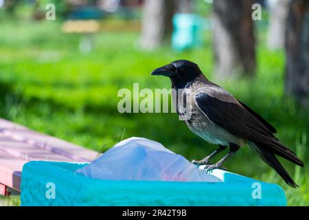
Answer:
[(214, 1), (216, 77), (255, 73), (255, 37), (249, 0)]

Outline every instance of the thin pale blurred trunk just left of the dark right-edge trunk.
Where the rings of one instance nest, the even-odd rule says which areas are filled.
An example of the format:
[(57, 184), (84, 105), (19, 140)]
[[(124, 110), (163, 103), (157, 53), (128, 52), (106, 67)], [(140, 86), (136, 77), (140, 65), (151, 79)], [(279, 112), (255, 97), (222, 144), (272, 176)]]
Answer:
[(267, 34), (267, 46), (271, 50), (278, 50), (284, 47), (284, 32), (286, 30), (289, 2), (290, 0), (277, 0), (275, 5), (271, 5)]

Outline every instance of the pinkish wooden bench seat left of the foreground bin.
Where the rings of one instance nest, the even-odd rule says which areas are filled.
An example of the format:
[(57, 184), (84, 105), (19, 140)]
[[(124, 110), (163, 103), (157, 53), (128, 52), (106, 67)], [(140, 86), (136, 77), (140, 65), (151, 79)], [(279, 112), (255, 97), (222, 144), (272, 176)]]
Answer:
[(3, 186), (20, 190), (23, 164), (31, 160), (91, 162), (96, 157), (96, 151), (0, 118), (0, 184)]

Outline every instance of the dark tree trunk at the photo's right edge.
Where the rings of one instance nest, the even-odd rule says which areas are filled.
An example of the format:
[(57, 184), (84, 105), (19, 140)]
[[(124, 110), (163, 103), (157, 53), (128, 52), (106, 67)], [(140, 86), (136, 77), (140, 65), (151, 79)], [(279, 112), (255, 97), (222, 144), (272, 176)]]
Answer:
[(308, 107), (309, 1), (290, 2), (286, 23), (286, 92)]

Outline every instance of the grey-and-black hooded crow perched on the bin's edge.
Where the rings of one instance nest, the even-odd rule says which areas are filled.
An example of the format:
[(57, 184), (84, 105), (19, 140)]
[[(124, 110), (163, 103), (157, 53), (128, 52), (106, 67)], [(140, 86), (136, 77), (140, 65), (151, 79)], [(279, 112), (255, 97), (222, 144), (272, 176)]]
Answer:
[[(303, 167), (301, 159), (273, 135), (277, 131), (271, 124), (228, 91), (207, 80), (196, 63), (174, 61), (155, 69), (151, 74), (168, 76), (172, 81), (172, 88), (176, 91), (181, 89), (181, 92), (176, 92), (176, 98), (173, 97), (179, 116), (196, 135), (211, 144), (218, 144), (216, 151), (200, 161), (192, 161), (194, 164), (206, 165), (207, 171), (221, 168), (222, 163), (238, 151), (240, 146), (248, 144), (286, 184), (297, 187), (275, 155)], [(187, 105), (183, 107), (177, 104), (179, 100)], [(184, 113), (187, 109), (190, 109), (190, 116)], [(229, 153), (216, 164), (209, 164), (209, 159), (227, 146)]]

